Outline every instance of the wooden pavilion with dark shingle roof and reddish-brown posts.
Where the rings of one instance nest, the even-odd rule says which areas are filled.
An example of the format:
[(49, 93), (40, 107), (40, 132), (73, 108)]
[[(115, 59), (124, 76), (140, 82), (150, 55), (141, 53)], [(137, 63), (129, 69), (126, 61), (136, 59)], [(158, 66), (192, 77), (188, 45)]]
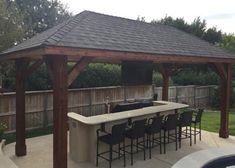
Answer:
[[(67, 167), (67, 90), (91, 62), (153, 61), (163, 75), (163, 100), (168, 99), (171, 64), (209, 64), (222, 81), (219, 136), (227, 138), (231, 65), (235, 56), (173, 27), (84, 11), (6, 50), (0, 60), (15, 60), (17, 156), (26, 155), (25, 79), (43, 62), (53, 82), (53, 164)], [(77, 62), (68, 72), (67, 62)], [(31, 62), (31, 63), (30, 63)], [(32, 63), (33, 62), (33, 63)]]

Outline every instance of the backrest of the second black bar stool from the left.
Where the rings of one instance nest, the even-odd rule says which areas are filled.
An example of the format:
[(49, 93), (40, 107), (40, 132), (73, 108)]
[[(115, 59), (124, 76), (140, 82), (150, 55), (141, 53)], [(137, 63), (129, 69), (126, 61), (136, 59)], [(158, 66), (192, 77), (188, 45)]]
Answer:
[(132, 136), (134, 138), (141, 138), (145, 134), (146, 119), (135, 120), (132, 124)]

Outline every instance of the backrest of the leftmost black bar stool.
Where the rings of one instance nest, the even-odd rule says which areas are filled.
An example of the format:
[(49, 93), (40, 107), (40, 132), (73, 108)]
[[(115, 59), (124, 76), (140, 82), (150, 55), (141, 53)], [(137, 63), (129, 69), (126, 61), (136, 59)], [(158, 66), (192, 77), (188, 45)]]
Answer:
[(117, 124), (112, 127), (113, 144), (122, 142), (125, 138), (126, 123)]

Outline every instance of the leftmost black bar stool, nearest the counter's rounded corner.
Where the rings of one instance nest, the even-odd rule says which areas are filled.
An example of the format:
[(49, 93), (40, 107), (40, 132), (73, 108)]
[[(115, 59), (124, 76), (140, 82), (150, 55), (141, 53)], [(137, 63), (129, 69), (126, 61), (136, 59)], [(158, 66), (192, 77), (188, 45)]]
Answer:
[[(112, 161), (114, 159), (120, 159), (121, 156), (124, 157), (124, 167), (126, 166), (126, 156), (125, 156), (125, 131), (126, 131), (126, 125), (127, 123), (117, 124), (112, 126), (112, 132), (108, 133), (105, 131), (102, 131), (101, 129), (98, 129), (96, 131), (97, 133), (97, 146), (96, 146), (96, 166), (98, 166), (99, 157), (102, 159), (105, 159), (109, 162), (109, 168), (112, 166)], [(104, 135), (100, 135), (100, 133), (103, 133)], [(99, 153), (99, 142), (103, 142), (109, 145), (109, 150)], [(123, 144), (123, 148), (120, 147), (120, 144)], [(118, 145), (118, 151), (113, 150), (113, 146)], [(123, 151), (121, 154), (120, 151)], [(118, 154), (117, 158), (113, 158), (113, 152)], [(106, 158), (103, 156), (104, 154), (109, 153), (109, 158)]]

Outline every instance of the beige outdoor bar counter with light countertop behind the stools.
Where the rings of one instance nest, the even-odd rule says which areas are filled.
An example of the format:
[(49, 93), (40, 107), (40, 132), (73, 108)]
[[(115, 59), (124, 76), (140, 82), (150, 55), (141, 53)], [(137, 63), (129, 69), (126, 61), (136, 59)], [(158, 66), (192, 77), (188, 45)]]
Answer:
[[(68, 113), (69, 117), (69, 152), (76, 162), (90, 161), (95, 163), (96, 158), (96, 130), (111, 131), (113, 125), (130, 122), (131, 120), (150, 118), (156, 114), (174, 113), (177, 109), (188, 107), (186, 104), (167, 101), (154, 101), (153, 106), (136, 110), (122, 111), (85, 117), (77, 113)], [(100, 144), (100, 149), (106, 146)]]

